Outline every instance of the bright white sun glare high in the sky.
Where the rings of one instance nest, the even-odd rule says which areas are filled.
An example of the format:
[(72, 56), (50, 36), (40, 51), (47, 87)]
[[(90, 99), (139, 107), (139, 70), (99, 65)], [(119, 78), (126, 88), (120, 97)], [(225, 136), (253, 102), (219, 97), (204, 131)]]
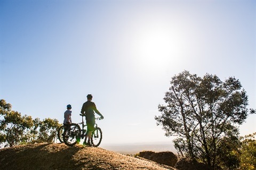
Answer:
[(180, 37), (177, 32), (161, 28), (148, 28), (136, 38), (137, 62), (144, 69), (162, 69), (178, 59)]

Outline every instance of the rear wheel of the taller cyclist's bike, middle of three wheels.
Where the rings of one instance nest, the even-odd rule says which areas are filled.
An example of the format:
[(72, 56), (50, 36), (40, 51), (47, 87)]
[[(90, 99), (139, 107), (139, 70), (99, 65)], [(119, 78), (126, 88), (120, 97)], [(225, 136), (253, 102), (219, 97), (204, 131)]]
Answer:
[(67, 146), (74, 146), (80, 138), (81, 129), (76, 123), (71, 123), (64, 131), (63, 141)]

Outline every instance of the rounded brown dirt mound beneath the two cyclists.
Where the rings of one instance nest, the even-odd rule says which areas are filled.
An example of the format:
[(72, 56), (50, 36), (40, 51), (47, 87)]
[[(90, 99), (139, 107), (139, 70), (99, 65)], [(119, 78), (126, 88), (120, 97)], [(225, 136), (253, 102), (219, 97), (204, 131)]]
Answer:
[(1, 169), (166, 169), (102, 148), (38, 143), (0, 149)]

